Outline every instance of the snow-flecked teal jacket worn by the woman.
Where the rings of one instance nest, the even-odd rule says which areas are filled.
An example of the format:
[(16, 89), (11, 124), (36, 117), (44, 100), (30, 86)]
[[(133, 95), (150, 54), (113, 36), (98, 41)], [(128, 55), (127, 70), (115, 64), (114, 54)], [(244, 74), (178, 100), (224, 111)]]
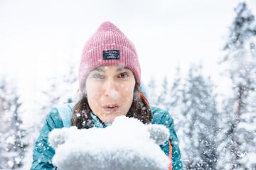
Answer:
[[(74, 104), (75, 103), (67, 103), (63, 106), (56, 106), (52, 111), (50, 111), (50, 113), (48, 113), (40, 135), (33, 147), (33, 163), (31, 170), (58, 169), (57, 167), (53, 166), (51, 162), (55, 154), (55, 150), (53, 147), (50, 147), (48, 143), (48, 134), (55, 128), (70, 127), (72, 108)], [(174, 130), (174, 120), (171, 118), (168, 111), (161, 108), (151, 107), (151, 111), (153, 114), (152, 124), (165, 125), (166, 128), (169, 128), (170, 130), (171, 135), (169, 140), (172, 145), (171, 156), (173, 169), (182, 169), (181, 153), (180, 149), (178, 148), (178, 138)], [(95, 116), (93, 113), (91, 113), (91, 115), (94, 126), (96, 128), (103, 128), (103, 125), (100, 123), (97, 116)], [(110, 124), (111, 123), (108, 123), (107, 125)], [(169, 156), (169, 141), (166, 141), (164, 145), (160, 145), (160, 147), (164, 153)]]

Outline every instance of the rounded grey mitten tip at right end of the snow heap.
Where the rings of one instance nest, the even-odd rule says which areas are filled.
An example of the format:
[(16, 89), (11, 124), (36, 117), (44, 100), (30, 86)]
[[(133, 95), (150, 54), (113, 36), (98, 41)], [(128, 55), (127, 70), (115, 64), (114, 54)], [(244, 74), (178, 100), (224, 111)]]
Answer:
[(164, 125), (146, 125), (147, 130), (150, 133), (150, 138), (161, 145), (169, 139), (170, 132)]

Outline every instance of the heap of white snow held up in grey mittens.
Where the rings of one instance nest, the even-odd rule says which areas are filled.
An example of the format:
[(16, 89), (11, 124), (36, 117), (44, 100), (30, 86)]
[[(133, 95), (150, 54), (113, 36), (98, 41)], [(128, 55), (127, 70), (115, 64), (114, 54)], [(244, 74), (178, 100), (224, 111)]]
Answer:
[(125, 116), (107, 128), (62, 128), (49, 135), (53, 164), (63, 170), (168, 169), (169, 157), (159, 147), (168, 139), (164, 125), (144, 125)]

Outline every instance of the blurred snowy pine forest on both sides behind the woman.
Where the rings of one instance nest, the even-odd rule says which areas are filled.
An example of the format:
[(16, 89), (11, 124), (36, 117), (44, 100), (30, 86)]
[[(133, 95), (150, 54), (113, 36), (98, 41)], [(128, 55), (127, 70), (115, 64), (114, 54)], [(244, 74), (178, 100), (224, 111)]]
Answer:
[[(219, 94), (218, 84), (203, 72), (203, 64), (191, 64), (186, 76), (176, 68), (171, 81), (161, 85), (152, 77), (146, 85), (152, 105), (165, 108), (174, 118), (184, 169), (256, 169), (256, 11), (240, 3), (223, 42), (219, 61), (222, 77), (232, 84), (232, 95)], [(180, 63), (182, 64), (182, 63)], [(0, 169), (29, 169), (33, 142), (46, 114), (55, 104), (76, 101), (77, 69), (68, 66), (60, 77), (49, 77), (31, 103), (36, 120), (24, 124), (30, 106), (21, 89), (6, 75), (0, 77)]]

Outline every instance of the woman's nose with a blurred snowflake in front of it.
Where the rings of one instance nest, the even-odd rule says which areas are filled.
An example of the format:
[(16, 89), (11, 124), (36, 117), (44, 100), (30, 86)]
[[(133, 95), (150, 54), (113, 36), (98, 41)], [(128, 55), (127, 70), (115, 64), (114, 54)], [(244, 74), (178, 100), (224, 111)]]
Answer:
[(110, 98), (117, 98), (119, 96), (119, 88), (117, 82), (115, 82), (113, 79), (107, 79), (105, 81), (105, 96)]

